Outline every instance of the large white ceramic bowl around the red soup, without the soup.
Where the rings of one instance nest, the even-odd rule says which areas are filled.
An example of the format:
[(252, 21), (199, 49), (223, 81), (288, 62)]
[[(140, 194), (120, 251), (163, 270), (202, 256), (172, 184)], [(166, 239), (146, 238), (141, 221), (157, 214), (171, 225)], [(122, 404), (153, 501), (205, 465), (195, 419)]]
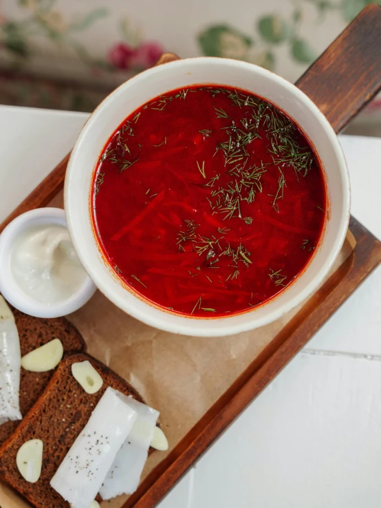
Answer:
[[(328, 220), (312, 261), (279, 295), (247, 313), (222, 318), (174, 315), (144, 301), (119, 282), (100, 253), (91, 226), (91, 177), (113, 131), (134, 109), (171, 89), (218, 83), (246, 89), (270, 100), (296, 120), (314, 145), (325, 172)], [(219, 336), (274, 321), (314, 293), (327, 276), (345, 240), (349, 222), (349, 176), (338, 138), (325, 116), (294, 85), (257, 65), (217, 58), (166, 63), (123, 83), (97, 107), (83, 127), (69, 160), (65, 211), (74, 247), (94, 283), (118, 307), (146, 324), (185, 335)]]

